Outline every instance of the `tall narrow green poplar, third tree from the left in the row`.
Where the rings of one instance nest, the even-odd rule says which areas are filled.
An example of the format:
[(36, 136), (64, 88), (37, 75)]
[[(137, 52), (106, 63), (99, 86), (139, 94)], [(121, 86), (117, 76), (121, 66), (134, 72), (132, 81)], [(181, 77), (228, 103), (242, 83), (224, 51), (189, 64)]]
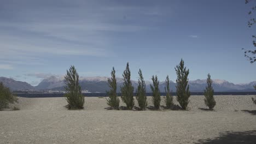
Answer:
[(129, 69), (129, 63), (126, 65), (126, 69), (123, 74), (123, 86), (121, 86), (121, 99), (126, 104), (128, 110), (132, 110), (134, 106), (133, 100), (133, 86), (131, 83), (131, 71)]

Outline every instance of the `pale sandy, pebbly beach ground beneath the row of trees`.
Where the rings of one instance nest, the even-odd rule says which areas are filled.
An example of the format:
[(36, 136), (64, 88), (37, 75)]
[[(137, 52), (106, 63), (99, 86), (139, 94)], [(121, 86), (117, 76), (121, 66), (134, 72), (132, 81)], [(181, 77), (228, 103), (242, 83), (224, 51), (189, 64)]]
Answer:
[(19, 98), (19, 111), (0, 111), (0, 143), (256, 143), (251, 97), (217, 95), (214, 111), (203, 96), (191, 96), (188, 111), (106, 110), (97, 97), (67, 110), (65, 98)]

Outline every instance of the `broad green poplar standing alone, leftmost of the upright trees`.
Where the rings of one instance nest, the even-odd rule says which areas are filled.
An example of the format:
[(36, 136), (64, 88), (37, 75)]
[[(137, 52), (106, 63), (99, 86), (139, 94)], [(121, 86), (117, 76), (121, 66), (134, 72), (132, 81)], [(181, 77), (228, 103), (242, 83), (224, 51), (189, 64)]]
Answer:
[(65, 75), (65, 89), (67, 93), (65, 98), (68, 103), (68, 109), (84, 109), (84, 96), (79, 85), (79, 75), (74, 65), (71, 65)]

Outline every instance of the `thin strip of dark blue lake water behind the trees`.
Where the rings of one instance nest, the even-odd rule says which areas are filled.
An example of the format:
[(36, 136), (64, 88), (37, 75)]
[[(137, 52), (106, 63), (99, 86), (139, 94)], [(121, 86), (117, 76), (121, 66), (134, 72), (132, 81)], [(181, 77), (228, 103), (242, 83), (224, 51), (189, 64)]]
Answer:
[[(24, 98), (56, 98), (63, 97), (65, 93), (15, 93), (18, 97)], [(176, 93), (171, 93), (176, 95)], [(83, 93), (85, 97), (108, 97), (107, 93)], [(121, 93), (118, 93), (121, 96)], [(136, 94), (134, 94), (136, 95)], [(146, 93), (147, 96), (151, 96), (152, 93)], [(161, 93), (165, 96), (165, 93)], [(191, 95), (203, 95), (203, 92), (191, 92)], [(215, 92), (214, 95), (256, 95), (256, 92)]]

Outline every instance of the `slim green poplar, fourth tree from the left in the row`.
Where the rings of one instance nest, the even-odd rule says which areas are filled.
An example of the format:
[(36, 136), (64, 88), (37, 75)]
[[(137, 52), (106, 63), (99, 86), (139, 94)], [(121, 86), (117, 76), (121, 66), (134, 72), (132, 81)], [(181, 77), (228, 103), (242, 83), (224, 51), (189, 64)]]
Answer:
[(142, 76), (142, 71), (139, 69), (139, 79), (138, 79), (138, 87), (136, 90), (136, 99), (138, 101), (139, 108), (141, 110), (146, 110), (148, 105), (147, 97), (146, 97), (146, 84)]

